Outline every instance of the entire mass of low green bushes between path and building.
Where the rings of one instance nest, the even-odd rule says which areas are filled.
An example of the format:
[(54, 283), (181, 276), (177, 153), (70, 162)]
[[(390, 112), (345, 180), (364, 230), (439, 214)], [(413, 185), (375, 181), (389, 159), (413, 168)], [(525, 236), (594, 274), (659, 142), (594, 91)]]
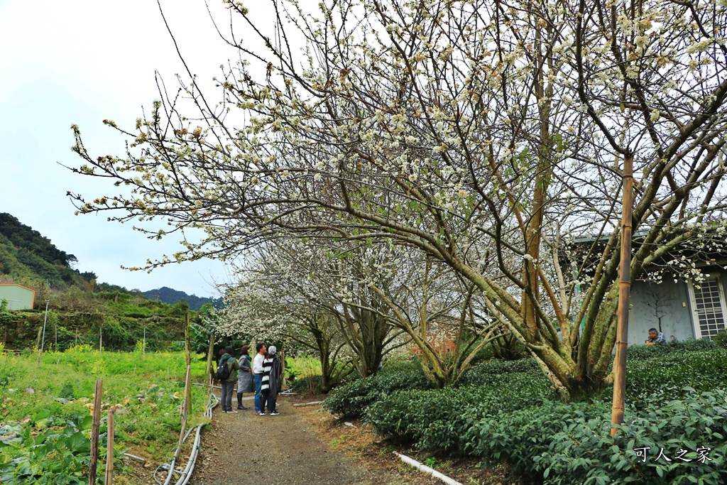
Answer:
[[(545, 484), (727, 479), (727, 349), (713, 342), (629, 348), (628, 409), (615, 437), (608, 433), (610, 390), (563, 404), (530, 358), (478, 364), (459, 388), (406, 387), (416, 382), (413, 370), (393, 368), (342, 386), (326, 406), (362, 414), (383, 436), (505, 461)], [(662, 449), (671, 461), (659, 457)]]

